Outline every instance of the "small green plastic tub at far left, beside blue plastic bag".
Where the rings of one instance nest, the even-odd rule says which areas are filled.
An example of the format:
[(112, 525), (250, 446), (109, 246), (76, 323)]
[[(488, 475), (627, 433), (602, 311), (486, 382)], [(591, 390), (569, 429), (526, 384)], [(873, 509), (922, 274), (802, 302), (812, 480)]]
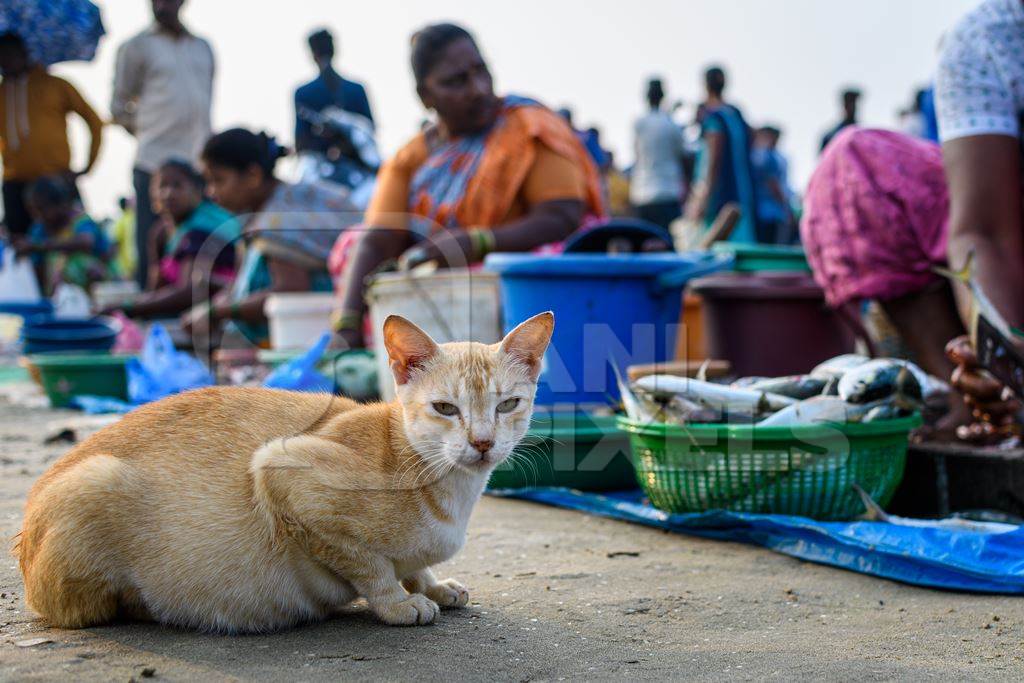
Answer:
[(125, 366), (130, 354), (35, 353), (29, 364), (39, 370), (39, 381), (53, 408), (68, 408), (73, 396), (128, 398)]

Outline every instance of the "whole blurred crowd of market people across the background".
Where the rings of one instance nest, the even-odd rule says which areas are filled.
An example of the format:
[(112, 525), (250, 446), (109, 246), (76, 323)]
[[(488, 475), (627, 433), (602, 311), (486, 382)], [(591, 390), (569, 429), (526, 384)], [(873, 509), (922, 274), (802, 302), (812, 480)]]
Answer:
[[(965, 330), (937, 266), (973, 253), (995, 308), (1024, 324), (1019, 0), (985, 0), (951, 30), (934, 87), (914, 91), (898, 130), (861, 127), (863, 95), (844, 89), (804, 197), (783, 131), (751, 125), (722, 67), (703, 70), (703, 97), (687, 106), (650, 79), (624, 167), (568, 109), (496, 93), (474, 37), (453, 24), (413, 38), (430, 116), (387, 160), (367, 91), (336, 70), (327, 31), (308, 38), (316, 74), (294, 94), (293, 148), (243, 128), (214, 133), (215, 51), (182, 24), (181, 5), (153, 0), (153, 24), (118, 49), (111, 121), (137, 147), (134, 193), (108, 224), (77, 189), (103, 119), (17, 35), (0, 36), (4, 227), (46, 293), (134, 282), (138, 293), (118, 303), (128, 315), (177, 317), (213, 338), (228, 325), (261, 341), (269, 293), (334, 291), (337, 341), (361, 346), (366, 281), (382, 268), (557, 251), (578, 230), (627, 218), (656, 228), (643, 249), (672, 249), (729, 208), (739, 218), (727, 239), (802, 242), (828, 303), (880, 302), (933, 374), (951, 370), (943, 346)], [(72, 113), (91, 133), (81, 170), (71, 168)], [(288, 154), (297, 179), (276, 171)]]

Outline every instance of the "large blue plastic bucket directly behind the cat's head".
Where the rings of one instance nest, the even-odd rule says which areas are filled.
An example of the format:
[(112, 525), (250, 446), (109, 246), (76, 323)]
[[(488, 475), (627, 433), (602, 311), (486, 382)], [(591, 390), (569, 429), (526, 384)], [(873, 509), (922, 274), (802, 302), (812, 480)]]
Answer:
[(703, 252), (492, 254), (484, 267), (502, 279), (506, 331), (554, 311), (537, 402), (579, 411), (618, 399), (611, 362), (625, 376), (627, 366), (668, 360), (687, 281), (731, 263)]

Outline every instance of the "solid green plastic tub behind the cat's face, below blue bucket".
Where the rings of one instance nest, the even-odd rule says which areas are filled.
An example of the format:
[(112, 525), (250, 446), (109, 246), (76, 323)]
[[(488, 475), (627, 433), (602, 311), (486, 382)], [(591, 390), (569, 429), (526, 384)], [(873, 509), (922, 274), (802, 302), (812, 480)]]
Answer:
[(636, 486), (630, 437), (614, 416), (539, 414), (515, 456), (490, 474), (489, 488), (566, 486), (621, 490)]

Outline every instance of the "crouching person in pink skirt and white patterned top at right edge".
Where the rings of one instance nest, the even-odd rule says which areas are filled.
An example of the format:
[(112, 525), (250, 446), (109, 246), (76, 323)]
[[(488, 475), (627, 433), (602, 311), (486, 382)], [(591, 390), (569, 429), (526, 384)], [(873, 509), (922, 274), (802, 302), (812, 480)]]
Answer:
[[(828, 302), (879, 300), (918, 361), (940, 377), (953, 370), (943, 349), (964, 334), (965, 318), (936, 266), (961, 268), (973, 253), (987, 298), (1011, 326), (1024, 325), (1024, 94), (1016, 87), (1024, 63), (1013, 56), (1024, 47), (1021, 36), (1019, 3), (986, 0), (943, 42), (936, 83), (941, 148), (853, 128), (825, 151), (808, 186), (801, 233)], [(965, 357), (962, 348), (953, 351), (953, 359)], [(969, 398), (976, 393), (972, 375), (962, 370), (953, 378)], [(966, 419), (957, 408), (952, 417)], [(1006, 415), (1006, 405), (996, 408), (974, 412)]]

